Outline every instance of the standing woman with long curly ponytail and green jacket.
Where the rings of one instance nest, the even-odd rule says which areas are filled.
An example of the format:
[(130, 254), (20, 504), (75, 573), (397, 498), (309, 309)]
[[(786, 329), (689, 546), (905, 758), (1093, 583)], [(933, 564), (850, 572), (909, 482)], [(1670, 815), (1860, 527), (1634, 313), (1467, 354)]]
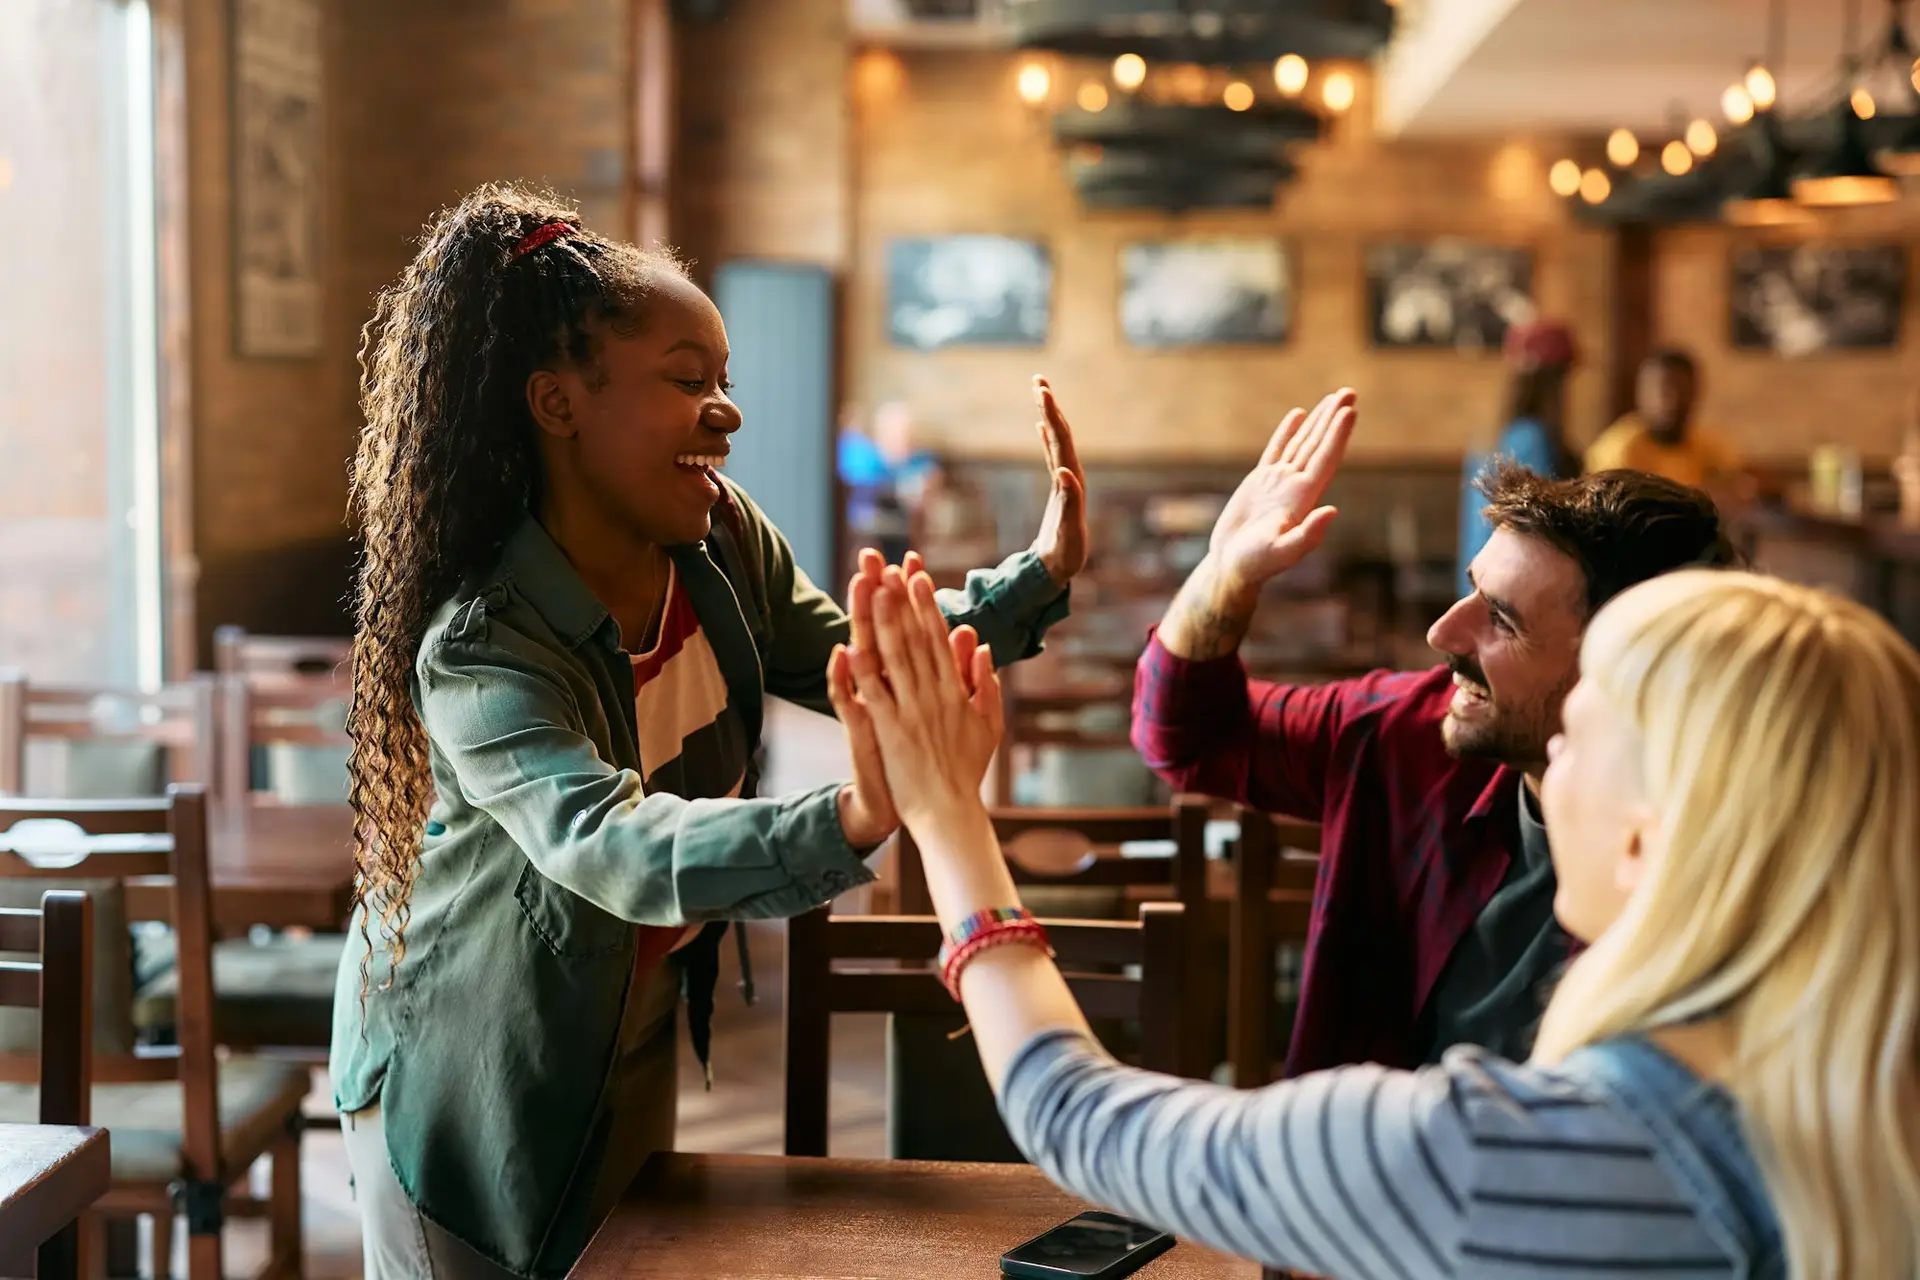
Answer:
[[(367, 1274), (557, 1276), (672, 1146), (676, 1009), (705, 1059), (726, 921), (866, 883), (895, 814), (872, 752), (755, 798), (764, 697), (829, 710), (851, 624), (722, 476), (726, 326), (674, 257), (482, 188), (380, 296), (361, 367), (365, 946), (332, 1079)], [(1087, 558), (1037, 393), (1041, 533), (943, 599), (1002, 660), (1039, 651)]]

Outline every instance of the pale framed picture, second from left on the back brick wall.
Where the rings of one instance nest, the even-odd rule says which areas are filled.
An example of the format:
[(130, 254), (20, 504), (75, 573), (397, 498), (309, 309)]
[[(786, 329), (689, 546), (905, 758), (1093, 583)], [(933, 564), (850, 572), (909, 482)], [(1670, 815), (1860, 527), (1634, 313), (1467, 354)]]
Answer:
[(1156, 240), (1119, 251), (1119, 328), (1137, 347), (1286, 342), (1292, 274), (1277, 240)]

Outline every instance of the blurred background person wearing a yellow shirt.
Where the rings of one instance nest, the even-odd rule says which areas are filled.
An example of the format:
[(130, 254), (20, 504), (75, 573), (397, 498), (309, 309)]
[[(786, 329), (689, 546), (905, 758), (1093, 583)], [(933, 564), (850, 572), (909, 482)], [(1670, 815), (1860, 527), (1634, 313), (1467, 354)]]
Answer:
[(1636, 413), (1599, 434), (1586, 449), (1586, 470), (1642, 470), (1707, 489), (1716, 503), (1749, 501), (1753, 478), (1740, 449), (1693, 422), (1699, 368), (1678, 347), (1659, 347), (1640, 365)]

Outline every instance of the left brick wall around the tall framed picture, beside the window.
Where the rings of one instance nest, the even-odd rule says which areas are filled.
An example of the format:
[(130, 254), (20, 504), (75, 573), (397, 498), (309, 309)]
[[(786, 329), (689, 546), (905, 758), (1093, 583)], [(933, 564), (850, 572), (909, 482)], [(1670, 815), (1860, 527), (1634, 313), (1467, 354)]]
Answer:
[[(223, 622), (338, 631), (359, 328), (432, 213), (493, 178), (626, 219), (626, 0), (344, 0), (328, 40), (326, 349), (232, 347), (225, 0), (190, 0), (194, 537), (202, 647)], [(202, 652), (202, 658), (207, 654)]]

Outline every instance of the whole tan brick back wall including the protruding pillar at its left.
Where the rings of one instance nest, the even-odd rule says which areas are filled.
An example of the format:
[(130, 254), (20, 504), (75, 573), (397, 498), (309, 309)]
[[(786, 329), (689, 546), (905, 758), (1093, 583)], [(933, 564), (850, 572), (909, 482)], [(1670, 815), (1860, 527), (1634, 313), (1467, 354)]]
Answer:
[[(1284, 407), (1352, 382), (1365, 409), (1357, 455), (1452, 457), (1498, 416), (1498, 361), (1371, 351), (1361, 286), (1367, 240), (1448, 232), (1534, 248), (1540, 301), (1580, 328), (1594, 357), (1574, 386), (1572, 436), (1586, 441), (1605, 426), (1611, 234), (1571, 223), (1548, 194), (1549, 146), (1400, 146), (1344, 130), (1308, 154), (1271, 215), (1087, 215), (1043, 121), (1012, 92), (1012, 56), (862, 56), (843, 35), (843, 0), (733, 0), (722, 23), (682, 31), (674, 236), (705, 269), (728, 257), (841, 269), (843, 391), (854, 407), (906, 399), (945, 447), (1023, 453), (1025, 380), (1048, 372), (1096, 457), (1244, 457)], [(966, 230), (1048, 242), (1056, 292), (1044, 349), (924, 355), (885, 344), (885, 240)], [(1816, 234), (1907, 240), (1914, 230), (1908, 203), (1830, 215)], [(1125, 345), (1119, 246), (1187, 232), (1286, 240), (1296, 278), (1286, 345)], [(1709, 226), (1655, 242), (1655, 338), (1699, 355), (1703, 415), (1759, 459), (1791, 462), (1826, 439), (1887, 455), (1920, 374), (1920, 278), (1899, 353), (1736, 353), (1726, 261), (1741, 238)]]

